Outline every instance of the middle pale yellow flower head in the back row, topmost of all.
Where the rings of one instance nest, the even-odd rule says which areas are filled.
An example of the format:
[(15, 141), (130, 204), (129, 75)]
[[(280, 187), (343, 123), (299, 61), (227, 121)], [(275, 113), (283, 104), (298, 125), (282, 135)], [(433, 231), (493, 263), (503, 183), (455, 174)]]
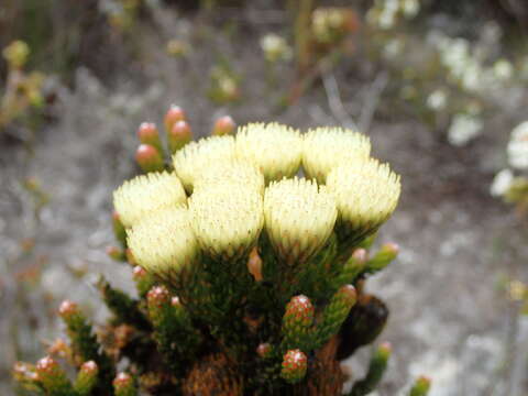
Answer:
[(294, 176), (302, 155), (297, 130), (278, 123), (250, 123), (237, 133), (237, 155), (254, 164), (266, 182)]

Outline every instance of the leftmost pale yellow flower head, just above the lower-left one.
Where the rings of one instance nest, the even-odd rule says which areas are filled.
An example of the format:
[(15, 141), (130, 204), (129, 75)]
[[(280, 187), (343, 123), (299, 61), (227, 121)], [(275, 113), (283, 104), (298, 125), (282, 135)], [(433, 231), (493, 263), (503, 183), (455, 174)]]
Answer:
[(113, 191), (113, 206), (125, 227), (148, 213), (185, 204), (187, 196), (174, 173), (148, 173), (127, 180)]

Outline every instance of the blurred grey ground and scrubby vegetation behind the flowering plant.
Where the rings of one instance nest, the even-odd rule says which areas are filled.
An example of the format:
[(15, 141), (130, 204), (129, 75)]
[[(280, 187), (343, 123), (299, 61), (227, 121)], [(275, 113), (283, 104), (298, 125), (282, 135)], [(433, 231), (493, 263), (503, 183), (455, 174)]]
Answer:
[(528, 393), (526, 1), (2, 0), (0, 48), (0, 394), (58, 300), (102, 321), (97, 274), (130, 288), (111, 190), (173, 102), (195, 135), (224, 114), (367, 133), (404, 180), (382, 394), (424, 372), (432, 395)]

